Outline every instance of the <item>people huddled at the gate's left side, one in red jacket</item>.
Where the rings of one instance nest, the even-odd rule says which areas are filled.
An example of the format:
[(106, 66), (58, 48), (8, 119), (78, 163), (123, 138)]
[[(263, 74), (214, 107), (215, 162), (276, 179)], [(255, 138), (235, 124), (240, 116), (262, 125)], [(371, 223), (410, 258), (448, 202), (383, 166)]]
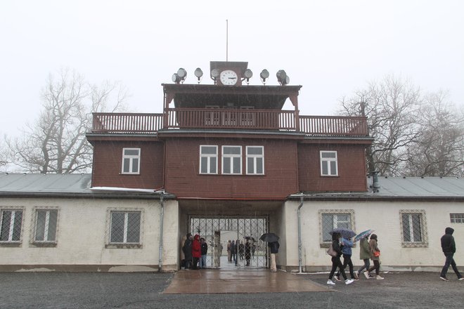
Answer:
[(186, 270), (198, 270), (206, 268), (206, 256), (208, 253), (208, 244), (205, 238), (200, 235), (192, 237), (191, 233), (187, 233), (186, 239), (182, 246), (183, 252), (183, 268)]

